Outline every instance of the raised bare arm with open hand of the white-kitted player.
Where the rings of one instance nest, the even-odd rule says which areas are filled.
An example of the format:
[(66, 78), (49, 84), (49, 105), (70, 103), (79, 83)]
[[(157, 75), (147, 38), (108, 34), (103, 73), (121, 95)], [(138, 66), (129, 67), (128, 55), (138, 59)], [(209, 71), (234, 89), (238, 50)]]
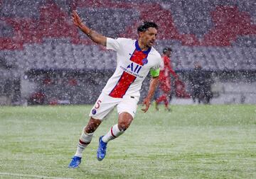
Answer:
[(96, 33), (94, 30), (91, 30), (84, 23), (82, 23), (82, 20), (76, 11), (73, 11), (72, 17), (74, 25), (80, 28), (80, 30), (82, 30), (82, 32), (85, 33), (88, 37), (90, 37), (93, 42), (106, 46), (107, 37)]

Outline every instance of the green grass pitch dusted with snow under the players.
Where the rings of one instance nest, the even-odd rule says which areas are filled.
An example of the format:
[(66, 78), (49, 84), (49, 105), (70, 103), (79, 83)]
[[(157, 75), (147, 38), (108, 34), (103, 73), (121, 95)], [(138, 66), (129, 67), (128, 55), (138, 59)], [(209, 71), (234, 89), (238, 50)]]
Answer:
[(68, 169), (91, 106), (0, 107), (0, 178), (256, 178), (255, 105), (150, 108), (108, 144), (97, 140), (117, 123), (102, 122), (80, 168)]

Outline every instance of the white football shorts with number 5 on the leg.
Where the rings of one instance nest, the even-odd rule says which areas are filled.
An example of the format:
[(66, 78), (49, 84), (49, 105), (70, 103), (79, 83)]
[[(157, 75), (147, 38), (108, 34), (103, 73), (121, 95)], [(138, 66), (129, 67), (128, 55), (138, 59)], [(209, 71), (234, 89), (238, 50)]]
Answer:
[(90, 117), (95, 120), (103, 120), (117, 106), (118, 115), (122, 112), (128, 112), (134, 118), (137, 110), (139, 97), (124, 96), (123, 98), (112, 98), (105, 93), (101, 93), (95, 105), (90, 111)]

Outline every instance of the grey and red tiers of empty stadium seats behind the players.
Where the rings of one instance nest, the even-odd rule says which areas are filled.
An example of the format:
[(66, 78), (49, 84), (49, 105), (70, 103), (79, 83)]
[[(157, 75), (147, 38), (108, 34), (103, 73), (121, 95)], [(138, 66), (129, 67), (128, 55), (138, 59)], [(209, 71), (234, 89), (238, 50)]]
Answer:
[(198, 61), (208, 71), (256, 71), (255, 8), (252, 0), (2, 0), (1, 76), (23, 76), (31, 69), (113, 70), (114, 52), (74, 27), (73, 9), (109, 37), (135, 38), (139, 23), (156, 21), (156, 49), (173, 47), (176, 71), (188, 71)]

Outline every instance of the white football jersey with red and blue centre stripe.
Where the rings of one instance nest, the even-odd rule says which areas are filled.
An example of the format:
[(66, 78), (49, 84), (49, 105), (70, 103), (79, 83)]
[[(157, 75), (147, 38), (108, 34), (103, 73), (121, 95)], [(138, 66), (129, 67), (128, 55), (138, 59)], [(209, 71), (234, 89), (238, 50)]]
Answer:
[(137, 40), (107, 37), (107, 49), (117, 52), (117, 68), (102, 92), (113, 98), (139, 97), (150, 69), (159, 69), (161, 55), (154, 47), (142, 51)]

